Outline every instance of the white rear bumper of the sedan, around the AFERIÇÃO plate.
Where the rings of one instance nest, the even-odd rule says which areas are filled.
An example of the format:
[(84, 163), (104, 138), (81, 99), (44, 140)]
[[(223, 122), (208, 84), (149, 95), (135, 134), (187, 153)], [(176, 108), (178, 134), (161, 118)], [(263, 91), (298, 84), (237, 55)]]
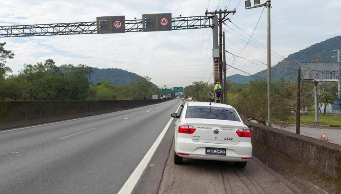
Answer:
[[(206, 147), (226, 149), (226, 156), (207, 155)], [(178, 138), (174, 142), (174, 149), (178, 156), (191, 159), (246, 162), (252, 157), (252, 145), (249, 141), (240, 141), (238, 144), (216, 144), (194, 142), (190, 138)]]

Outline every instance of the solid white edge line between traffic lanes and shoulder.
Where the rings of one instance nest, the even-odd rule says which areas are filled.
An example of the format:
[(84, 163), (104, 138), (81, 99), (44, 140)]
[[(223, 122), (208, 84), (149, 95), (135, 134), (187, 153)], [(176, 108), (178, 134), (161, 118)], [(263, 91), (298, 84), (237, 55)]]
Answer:
[[(180, 103), (180, 105), (181, 105), (181, 103)], [(176, 112), (179, 111), (180, 105), (179, 105), (178, 110)], [(123, 187), (118, 192), (118, 194), (131, 194), (131, 192), (134, 190), (138, 180), (141, 178), (141, 176), (142, 176), (143, 172), (145, 171), (151, 157), (154, 155), (154, 152), (158, 148), (161, 140), (163, 139), (163, 136), (165, 136), (167, 129), (169, 128), (170, 123), (172, 123), (172, 121), (173, 121), (173, 118), (170, 118), (167, 125), (165, 126), (165, 128), (163, 128), (163, 130), (160, 133), (160, 135), (158, 136), (158, 138), (155, 140), (153, 145), (150, 147), (150, 149), (146, 153), (145, 157), (143, 157), (141, 162), (137, 165), (137, 167), (135, 168), (134, 172), (130, 175), (128, 180), (124, 183)]]

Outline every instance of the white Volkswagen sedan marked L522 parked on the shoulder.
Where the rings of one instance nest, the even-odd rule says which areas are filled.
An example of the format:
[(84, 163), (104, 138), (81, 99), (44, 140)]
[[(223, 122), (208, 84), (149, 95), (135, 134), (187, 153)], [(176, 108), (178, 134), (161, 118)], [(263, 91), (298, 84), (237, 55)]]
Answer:
[(251, 131), (232, 106), (209, 102), (184, 104), (175, 123), (174, 163), (183, 158), (232, 161), (245, 167), (252, 157)]

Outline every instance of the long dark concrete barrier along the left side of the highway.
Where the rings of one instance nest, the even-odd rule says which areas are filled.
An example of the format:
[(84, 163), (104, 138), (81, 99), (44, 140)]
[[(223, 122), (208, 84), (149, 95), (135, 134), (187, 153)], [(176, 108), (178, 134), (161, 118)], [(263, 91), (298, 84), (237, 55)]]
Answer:
[(168, 100), (0, 101), (0, 130), (133, 109)]

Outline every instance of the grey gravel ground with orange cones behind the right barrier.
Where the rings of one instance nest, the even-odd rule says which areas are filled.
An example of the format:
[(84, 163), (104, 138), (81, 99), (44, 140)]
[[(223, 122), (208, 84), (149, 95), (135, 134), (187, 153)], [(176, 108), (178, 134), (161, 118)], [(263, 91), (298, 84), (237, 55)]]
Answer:
[[(280, 127), (274, 126), (278, 129), (290, 131), (296, 133), (296, 126)], [(341, 129), (324, 129), (324, 128), (313, 128), (313, 127), (300, 127), (300, 134), (311, 138), (320, 139), (320, 135), (325, 133), (328, 135), (330, 143), (341, 145)], [(324, 140), (325, 141), (325, 140)]]

